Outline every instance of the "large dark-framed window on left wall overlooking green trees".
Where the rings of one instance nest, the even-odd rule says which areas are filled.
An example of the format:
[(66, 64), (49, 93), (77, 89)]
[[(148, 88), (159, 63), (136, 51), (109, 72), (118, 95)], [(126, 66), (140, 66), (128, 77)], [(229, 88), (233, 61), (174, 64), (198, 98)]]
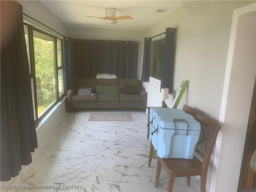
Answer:
[(24, 24), (34, 118), (38, 122), (64, 95), (62, 39)]

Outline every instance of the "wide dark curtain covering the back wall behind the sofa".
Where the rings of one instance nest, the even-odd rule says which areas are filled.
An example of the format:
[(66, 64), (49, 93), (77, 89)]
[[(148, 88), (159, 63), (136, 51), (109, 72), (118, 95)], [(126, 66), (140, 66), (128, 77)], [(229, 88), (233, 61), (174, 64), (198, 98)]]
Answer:
[(71, 67), (72, 76), (109, 73), (120, 78), (137, 77), (138, 42), (71, 39), (70, 43), (64, 43), (64, 50), (69, 46), (70, 53), (65, 54), (70, 64), (66, 65)]

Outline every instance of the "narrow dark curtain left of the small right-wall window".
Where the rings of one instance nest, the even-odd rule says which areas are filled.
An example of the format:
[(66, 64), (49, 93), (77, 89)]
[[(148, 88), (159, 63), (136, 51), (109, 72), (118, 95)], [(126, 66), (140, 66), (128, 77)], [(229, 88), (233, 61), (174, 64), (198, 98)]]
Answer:
[(144, 38), (144, 54), (142, 62), (141, 81), (149, 82), (149, 66), (150, 66), (150, 45), (151, 38)]

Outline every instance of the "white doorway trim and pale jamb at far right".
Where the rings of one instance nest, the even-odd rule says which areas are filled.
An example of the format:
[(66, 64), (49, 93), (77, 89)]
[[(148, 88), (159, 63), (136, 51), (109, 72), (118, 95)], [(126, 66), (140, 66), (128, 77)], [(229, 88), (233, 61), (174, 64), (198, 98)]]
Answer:
[(256, 77), (256, 3), (234, 10), (210, 191), (237, 191)]

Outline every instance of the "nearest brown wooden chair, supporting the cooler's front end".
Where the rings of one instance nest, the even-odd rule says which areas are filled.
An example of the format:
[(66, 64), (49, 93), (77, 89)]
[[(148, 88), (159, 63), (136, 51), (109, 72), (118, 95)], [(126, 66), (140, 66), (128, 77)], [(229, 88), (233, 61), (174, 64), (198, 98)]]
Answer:
[(201, 176), (201, 192), (205, 192), (210, 157), (220, 126), (201, 114), (197, 114), (196, 120), (201, 123), (201, 130), (204, 130), (204, 134), (201, 135), (202, 139), (196, 144), (198, 158), (196, 154), (193, 159), (158, 158), (155, 187), (158, 186), (160, 172), (163, 166), (169, 175), (168, 192), (172, 192), (175, 177), (186, 177), (187, 185), (190, 186), (190, 176), (197, 175)]

